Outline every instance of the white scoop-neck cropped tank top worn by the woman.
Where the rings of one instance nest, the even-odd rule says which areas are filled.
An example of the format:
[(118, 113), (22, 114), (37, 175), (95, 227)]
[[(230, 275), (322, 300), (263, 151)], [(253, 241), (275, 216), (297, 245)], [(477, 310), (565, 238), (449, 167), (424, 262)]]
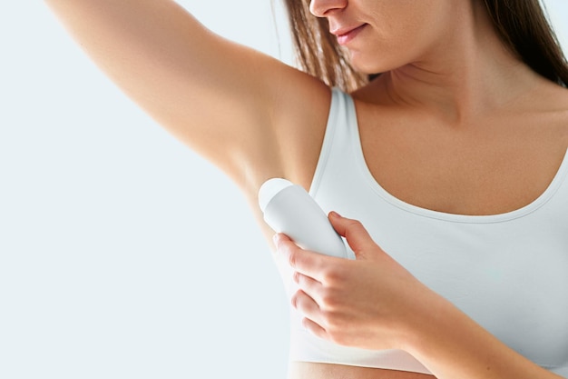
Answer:
[[(568, 378), (567, 175), (564, 157), (544, 194), (506, 214), (446, 214), (407, 204), (370, 174), (353, 100), (334, 89), (309, 192), (326, 212), (361, 221), (398, 263), (504, 344)], [(328, 343), (309, 334), (294, 310), (291, 316), (291, 361), (430, 374), (406, 352)]]

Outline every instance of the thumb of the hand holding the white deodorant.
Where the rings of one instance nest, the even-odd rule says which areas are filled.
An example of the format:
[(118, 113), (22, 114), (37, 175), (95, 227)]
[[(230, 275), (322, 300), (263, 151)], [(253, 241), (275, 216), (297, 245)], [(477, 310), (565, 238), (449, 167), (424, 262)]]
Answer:
[(331, 212), (328, 218), (338, 234), (347, 239), (357, 259), (373, 259), (373, 255), (382, 252), (368, 234), (365, 226), (359, 221), (343, 217), (335, 212)]

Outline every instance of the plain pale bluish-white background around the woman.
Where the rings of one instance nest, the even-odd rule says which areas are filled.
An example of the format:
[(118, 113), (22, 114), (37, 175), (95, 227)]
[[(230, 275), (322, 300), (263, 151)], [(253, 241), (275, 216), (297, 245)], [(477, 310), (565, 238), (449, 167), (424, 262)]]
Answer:
[[(268, 0), (180, 3), (291, 61)], [(0, 378), (284, 378), (288, 301), (237, 188), (42, 2), (2, 2), (0, 48)]]

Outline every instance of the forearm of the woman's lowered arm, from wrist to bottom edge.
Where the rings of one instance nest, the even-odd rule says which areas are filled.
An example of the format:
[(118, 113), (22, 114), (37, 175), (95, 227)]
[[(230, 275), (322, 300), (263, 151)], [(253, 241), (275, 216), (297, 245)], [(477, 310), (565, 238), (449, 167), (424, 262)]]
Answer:
[(440, 300), (436, 314), (408, 337), (407, 350), (438, 379), (560, 379), (514, 352), (452, 304)]

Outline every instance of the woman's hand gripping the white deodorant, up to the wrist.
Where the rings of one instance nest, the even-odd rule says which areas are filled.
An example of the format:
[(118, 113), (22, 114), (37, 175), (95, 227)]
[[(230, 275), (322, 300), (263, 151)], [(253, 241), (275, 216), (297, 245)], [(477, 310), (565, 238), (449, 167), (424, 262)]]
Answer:
[(300, 249), (277, 234), (280, 257), (295, 271), (299, 291), (292, 304), (304, 315), (313, 334), (337, 344), (367, 349), (404, 348), (432, 309), (437, 294), (419, 283), (386, 254), (355, 220), (329, 214), (356, 260), (329, 257)]

